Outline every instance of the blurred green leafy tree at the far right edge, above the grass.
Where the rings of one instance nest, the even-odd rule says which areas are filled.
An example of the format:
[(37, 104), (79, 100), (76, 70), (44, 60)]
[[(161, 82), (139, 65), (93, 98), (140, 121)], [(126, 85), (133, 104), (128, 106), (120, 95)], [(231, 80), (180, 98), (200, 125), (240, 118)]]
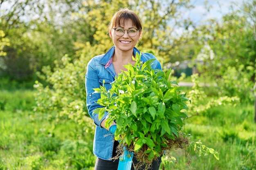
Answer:
[(241, 10), (224, 15), (221, 22), (209, 20), (193, 34), (198, 39), (195, 60), (203, 63), (198, 64), (202, 76), (215, 81), (217, 86), (213, 89), (219, 94), (238, 96), (244, 103), (256, 102), (255, 16), (252, 15), (255, 3), (255, 0), (244, 2)]

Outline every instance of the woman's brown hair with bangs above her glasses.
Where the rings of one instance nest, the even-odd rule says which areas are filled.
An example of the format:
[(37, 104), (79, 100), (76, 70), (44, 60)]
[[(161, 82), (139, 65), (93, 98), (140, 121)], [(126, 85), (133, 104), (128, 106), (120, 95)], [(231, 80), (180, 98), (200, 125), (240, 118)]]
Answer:
[(115, 13), (108, 25), (108, 32), (112, 31), (116, 26), (124, 25), (128, 19), (131, 19), (132, 24), (142, 33), (143, 28), (139, 16), (128, 8), (121, 8)]

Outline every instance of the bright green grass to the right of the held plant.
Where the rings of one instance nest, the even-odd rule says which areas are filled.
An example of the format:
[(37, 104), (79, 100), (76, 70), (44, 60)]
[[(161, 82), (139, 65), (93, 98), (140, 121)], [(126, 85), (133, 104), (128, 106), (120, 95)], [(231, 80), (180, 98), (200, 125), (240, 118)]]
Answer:
[[(256, 123), (253, 106), (221, 106), (208, 113), (185, 120), (186, 132), (218, 151), (220, 160), (213, 155), (198, 157), (193, 150), (172, 151), (177, 164), (175, 170), (256, 170)], [(188, 155), (189, 154), (189, 155)], [(168, 169), (167, 168), (167, 169)]]

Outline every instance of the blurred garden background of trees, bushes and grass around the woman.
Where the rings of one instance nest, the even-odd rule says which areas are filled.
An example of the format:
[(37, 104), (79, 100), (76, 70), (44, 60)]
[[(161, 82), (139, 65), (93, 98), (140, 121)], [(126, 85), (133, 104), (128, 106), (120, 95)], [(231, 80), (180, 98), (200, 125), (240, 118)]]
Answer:
[[(253, 119), (256, 121), (255, 0), (231, 8), (221, 20), (213, 18), (200, 24), (182, 15), (182, 10), (193, 9), (190, 0), (164, 4), (161, 0), (0, 2), (0, 127), (3, 132), (0, 153), (10, 155), (6, 158), (1, 155), (0, 169), (24, 166), (42, 169), (48, 158), (62, 168), (67, 162), (70, 163), (67, 167), (79, 167), (75, 164), (84, 163), (81, 157), (86, 154), (92, 158), (91, 162), (81, 164), (80, 169), (92, 166), (94, 125), (85, 106), (84, 74), (90, 58), (112, 46), (106, 28), (113, 11), (120, 7), (130, 7), (139, 13), (144, 36), (138, 48), (156, 55), (164, 70), (185, 60), (198, 69), (199, 75), (178, 79), (178, 82), (194, 83), (187, 89), (192, 100), (191, 118), (186, 120), (188, 130), (200, 134), (193, 135), (195, 139), (202, 137), (210, 144), (216, 139), (213, 148), (222, 148), (223, 144), (229, 148), (222, 151), (226, 155), (220, 158), (220, 164), (210, 164), (206, 169), (221, 169), (225, 165), (230, 169), (255, 169), (255, 135), (251, 133), (255, 132)], [(206, 8), (210, 10), (210, 6)], [(31, 96), (28, 89), (33, 85), (35, 95)], [(231, 104), (231, 108), (225, 104)], [(34, 128), (15, 126), (18, 122)], [(205, 135), (209, 132), (218, 135)], [(18, 144), (11, 145), (12, 141)], [(67, 151), (71, 146), (75, 149)], [(79, 146), (87, 146), (88, 150)], [(17, 155), (17, 152), (16, 157), (13, 153)], [(67, 153), (76, 156), (64, 157)], [(228, 153), (236, 157), (229, 157)], [(234, 159), (227, 161), (227, 158)], [(240, 158), (243, 161), (237, 161)], [(24, 163), (24, 159), (29, 163)], [(175, 164), (174, 159), (166, 160)], [(55, 164), (48, 161), (46, 165)]]

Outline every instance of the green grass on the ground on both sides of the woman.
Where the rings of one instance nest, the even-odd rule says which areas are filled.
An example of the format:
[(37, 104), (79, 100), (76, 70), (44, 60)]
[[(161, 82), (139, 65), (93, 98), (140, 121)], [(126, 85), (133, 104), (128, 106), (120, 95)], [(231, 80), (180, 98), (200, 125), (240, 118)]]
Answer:
[[(47, 119), (52, 113), (34, 113), (33, 93), (0, 91), (0, 170), (93, 170), (92, 136), (71, 120), (56, 124)], [(191, 140), (217, 150), (220, 160), (173, 150), (172, 159), (163, 157), (164, 170), (256, 170), (253, 120), (251, 105), (216, 107), (186, 119)]]

